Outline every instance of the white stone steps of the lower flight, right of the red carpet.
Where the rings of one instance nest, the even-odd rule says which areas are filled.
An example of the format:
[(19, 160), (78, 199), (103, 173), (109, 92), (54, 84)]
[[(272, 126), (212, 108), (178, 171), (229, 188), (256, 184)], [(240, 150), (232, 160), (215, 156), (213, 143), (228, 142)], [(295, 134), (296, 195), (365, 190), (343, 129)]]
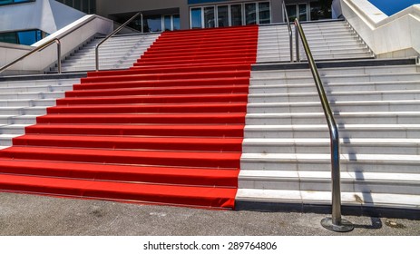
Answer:
[[(420, 66), (319, 72), (339, 126), (343, 204), (418, 210)], [(310, 71), (252, 72), (237, 201), (330, 204), (330, 171)]]

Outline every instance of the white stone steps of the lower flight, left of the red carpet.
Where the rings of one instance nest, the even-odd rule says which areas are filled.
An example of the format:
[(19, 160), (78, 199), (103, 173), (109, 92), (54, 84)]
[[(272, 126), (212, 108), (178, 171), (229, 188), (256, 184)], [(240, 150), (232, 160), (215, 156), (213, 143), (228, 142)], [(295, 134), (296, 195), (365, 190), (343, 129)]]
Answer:
[(12, 145), (12, 139), (23, 135), (24, 128), (55, 106), (58, 98), (73, 90), (78, 78), (36, 79), (0, 82), (0, 149)]

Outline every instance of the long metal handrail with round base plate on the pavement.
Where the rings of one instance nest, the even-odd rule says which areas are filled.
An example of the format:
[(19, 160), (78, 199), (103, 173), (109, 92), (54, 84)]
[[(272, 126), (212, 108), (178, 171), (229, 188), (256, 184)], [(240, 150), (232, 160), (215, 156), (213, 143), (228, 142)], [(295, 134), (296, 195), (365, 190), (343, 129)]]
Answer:
[[(354, 229), (354, 226), (348, 220), (341, 218), (341, 190), (340, 190), (340, 150), (339, 150), (339, 135), (337, 123), (334, 120), (334, 115), (331, 112), (331, 107), (325, 93), (319, 73), (317, 72), (317, 64), (315, 64), (314, 57), (310, 51), (309, 44), (305, 33), (303, 32), (302, 25), (299, 23), (298, 18), (295, 20), (295, 28), (298, 30), (300, 39), (302, 40), (305, 53), (307, 54), (308, 64), (315, 84), (317, 85), (317, 93), (321, 100), (322, 108), (324, 110), (330, 136), (331, 147), (331, 179), (332, 179), (332, 218), (325, 218), (321, 220), (322, 226), (328, 230), (339, 232), (346, 232)], [(298, 37), (296, 37), (298, 42)]]

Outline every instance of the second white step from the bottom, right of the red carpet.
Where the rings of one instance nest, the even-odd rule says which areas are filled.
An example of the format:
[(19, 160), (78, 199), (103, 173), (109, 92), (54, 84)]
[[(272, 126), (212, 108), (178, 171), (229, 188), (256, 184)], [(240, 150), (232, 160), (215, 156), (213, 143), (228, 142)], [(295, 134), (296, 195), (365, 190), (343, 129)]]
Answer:
[[(420, 174), (342, 172), (343, 192), (374, 192), (415, 195), (420, 190)], [(240, 171), (240, 189), (331, 190), (327, 171)]]

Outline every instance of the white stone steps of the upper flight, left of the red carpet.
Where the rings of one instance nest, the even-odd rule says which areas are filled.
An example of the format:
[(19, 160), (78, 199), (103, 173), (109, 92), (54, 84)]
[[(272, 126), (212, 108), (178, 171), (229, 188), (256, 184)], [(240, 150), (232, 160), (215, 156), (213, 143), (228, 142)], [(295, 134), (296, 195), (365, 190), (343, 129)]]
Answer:
[[(101, 70), (127, 69), (153, 44), (160, 34), (129, 34), (115, 36), (99, 48)], [(95, 69), (95, 47), (103, 37), (93, 39), (68, 56), (62, 64), (63, 72), (87, 72)], [(57, 72), (57, 67), (51, 69)]]

